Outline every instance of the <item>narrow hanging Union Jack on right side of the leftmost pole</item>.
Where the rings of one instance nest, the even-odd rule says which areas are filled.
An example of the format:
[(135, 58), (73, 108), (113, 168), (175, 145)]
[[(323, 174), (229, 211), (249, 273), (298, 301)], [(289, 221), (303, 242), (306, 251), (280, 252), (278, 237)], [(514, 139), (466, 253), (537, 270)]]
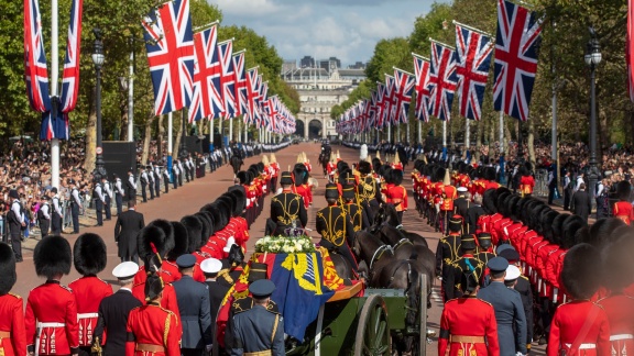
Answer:
[(61, 96), (61, 111), (64, 113), (75, 110), (75, 105), (77, 104), (83, 8), (84, 0), (74, 0), (70, 8), (70, 23), (68, 23), (68, 40), (66, 44), (66, 58), (64, 59), (64, 75), (62, 79)]

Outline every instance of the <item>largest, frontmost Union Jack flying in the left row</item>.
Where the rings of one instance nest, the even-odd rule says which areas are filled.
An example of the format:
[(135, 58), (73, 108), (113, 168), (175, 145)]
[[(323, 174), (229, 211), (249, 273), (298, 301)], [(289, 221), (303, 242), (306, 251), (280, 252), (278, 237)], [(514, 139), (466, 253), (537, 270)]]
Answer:
[(154, 87), (154, 114), (189, 107), (194, 93), (194, 33), (189, 0), (173, 0), (142, 21)]

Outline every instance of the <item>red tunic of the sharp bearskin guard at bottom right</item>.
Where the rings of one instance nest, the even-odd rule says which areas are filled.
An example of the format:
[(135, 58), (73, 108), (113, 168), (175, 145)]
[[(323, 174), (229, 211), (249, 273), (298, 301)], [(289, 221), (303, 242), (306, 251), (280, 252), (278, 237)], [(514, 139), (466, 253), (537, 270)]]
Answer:
[[(590, 327), (584, 335), (580, 335), (587, 320), (591, 323)], [(579, 346), (577, 349), (571, 349), (578, 335)], [(610, 324), (605, 311), (584, 300), (559, 305), (550, 323), (546, 355), (559, 356), (560, 351), (566, 351), (567, 356), (611, 355)]]

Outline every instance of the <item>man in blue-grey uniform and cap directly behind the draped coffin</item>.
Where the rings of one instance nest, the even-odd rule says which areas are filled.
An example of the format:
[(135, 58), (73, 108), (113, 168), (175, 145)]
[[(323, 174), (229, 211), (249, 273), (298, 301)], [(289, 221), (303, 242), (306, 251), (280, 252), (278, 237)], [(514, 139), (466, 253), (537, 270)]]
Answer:
[(228, 331), (227, 348), (231, 355), (285, 355), (284, 319), (266, 308), (275, 285), (269, 279), (260, 279), (249, 286), (253, 296), (253, 307), (237, 311)]

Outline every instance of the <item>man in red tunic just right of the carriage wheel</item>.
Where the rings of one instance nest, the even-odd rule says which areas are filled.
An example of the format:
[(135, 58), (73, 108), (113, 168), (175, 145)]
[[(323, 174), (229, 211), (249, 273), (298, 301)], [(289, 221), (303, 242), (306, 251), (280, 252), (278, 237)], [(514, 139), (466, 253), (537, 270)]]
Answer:
[(438, 355), (500, 355), (498, 323), (493, 307), (479, 299), (480, 276), (476, 271), (460, 275), (462, 297), (449, 300), (440, 316)]

